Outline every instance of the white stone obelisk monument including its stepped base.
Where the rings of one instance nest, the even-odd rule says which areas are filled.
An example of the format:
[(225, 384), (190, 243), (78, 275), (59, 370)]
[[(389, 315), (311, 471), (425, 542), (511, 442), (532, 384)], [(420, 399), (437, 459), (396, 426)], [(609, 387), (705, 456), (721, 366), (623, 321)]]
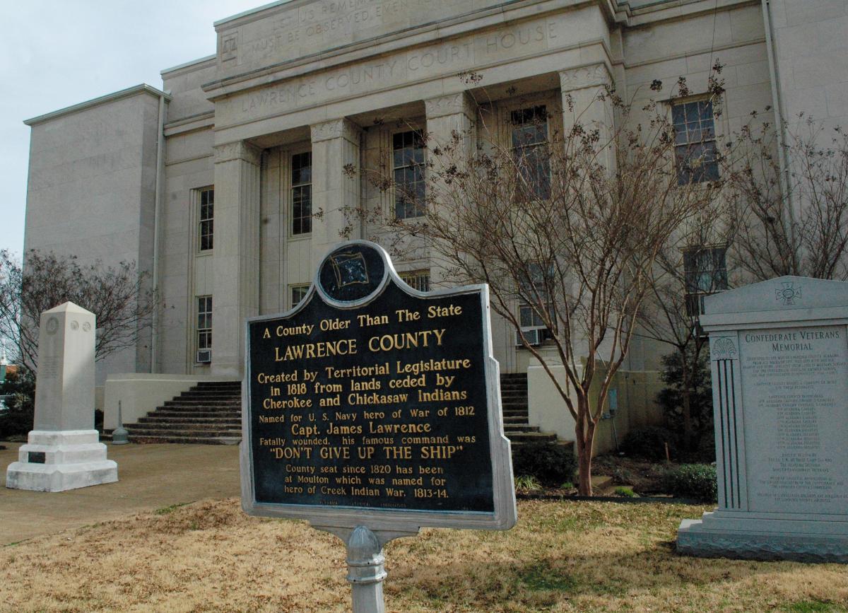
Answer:
[(64, 492), (118, 481), (94, 430), (94, 313), (73, 302), (42, 312), (34, 430), (8, 465), (6, 486)]

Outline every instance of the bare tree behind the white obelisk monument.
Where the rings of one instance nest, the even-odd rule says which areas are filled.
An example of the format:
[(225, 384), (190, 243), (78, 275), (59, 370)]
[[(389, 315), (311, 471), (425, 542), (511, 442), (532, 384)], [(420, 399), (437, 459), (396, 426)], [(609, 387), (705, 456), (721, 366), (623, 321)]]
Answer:
[(81, 264), (75, 256), (26, 253), (22, 267), (8, 250), (0, 251), (0, 336), (10, 340), (21, 363), (36, 372), (41, 313), (66, 301), (97, 317), (96, 358), (132, 346), (149, 328), (153, 291), (148, 273), (132, 262), (103, 267)]

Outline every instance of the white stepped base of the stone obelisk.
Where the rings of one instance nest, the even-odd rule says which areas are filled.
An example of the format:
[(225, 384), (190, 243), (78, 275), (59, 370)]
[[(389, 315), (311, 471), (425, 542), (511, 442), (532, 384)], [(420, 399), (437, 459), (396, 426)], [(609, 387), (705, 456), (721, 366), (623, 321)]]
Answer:
[(64, 492), (118, 481), (118, 464), (106, 459), (97, 430), (32, 430), (8, 465), (6, 486)]

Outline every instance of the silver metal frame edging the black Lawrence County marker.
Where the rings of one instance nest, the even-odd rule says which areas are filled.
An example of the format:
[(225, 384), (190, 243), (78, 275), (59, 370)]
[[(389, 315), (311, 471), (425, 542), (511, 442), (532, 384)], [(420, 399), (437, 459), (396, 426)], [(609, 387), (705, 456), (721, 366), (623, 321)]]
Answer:
[[(337, 301), (321, 287), (321, 270), (327, 259), (340, 248), (364, 245), (377, 251), (382, 258), (384, 272), (377, 288), (371, 294), (354, 301)], [(433, 511), (418, 509), (376, 509), (368, 507), (336, 507), (320, 504), (263, 503), (257, 502), (254, 487), (254, 433), (251, 431), (250, 381), (252, 376), (250, 355), (250, 326), (252, 323), (287, 318), (301, 311), (310, 300), (324, 301), (339, 310), (350, 310), (365, 306), (382, 295), (388, 284), (393, 282), (405, 294), (422, 298), (444, 298), (451, 295), (477, 294), (481, 301), (483, 321), (483, 373), (485, 375), (486, 408), (489, 435), (489, 459), (492, 466), (494, 509), (488, 511)], [(492, 329), (487, 284), (471, 284), (457, 288), (422, 292), (414, 290), (399, 277), (391, 257), (386, 250), (368, 240), (349, 240), (333, 245), (321, 259), (315, 271), (310, 289), (304, 299), (292, 309), (273, 315), (248, 318), (244, 327), (245, 370), (242, 383), (242, 442), (239, 449), (242, 484), (242, 508), (248, 515), (308, 520), (315, 528), (331, 531), (345, 542), (357, 526), (365, 526), (377, 534), (380, 544), (395, 537), (411, 536), (421, 527), (457, 528), (476, 530), (508, 530), (517, 520), (516, 493), (513, 486), (510, 441), (504, 435), (501, 412), (499, 363), (494, 358)]]

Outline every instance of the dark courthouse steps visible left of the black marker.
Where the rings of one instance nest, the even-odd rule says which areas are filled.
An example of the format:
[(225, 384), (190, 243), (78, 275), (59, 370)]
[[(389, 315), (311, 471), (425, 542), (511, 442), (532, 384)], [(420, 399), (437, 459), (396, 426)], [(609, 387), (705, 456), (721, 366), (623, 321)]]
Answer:
[(242, 383), (198, 383), (124, 427), (131, 442), (237, 445), (242, 440)]

